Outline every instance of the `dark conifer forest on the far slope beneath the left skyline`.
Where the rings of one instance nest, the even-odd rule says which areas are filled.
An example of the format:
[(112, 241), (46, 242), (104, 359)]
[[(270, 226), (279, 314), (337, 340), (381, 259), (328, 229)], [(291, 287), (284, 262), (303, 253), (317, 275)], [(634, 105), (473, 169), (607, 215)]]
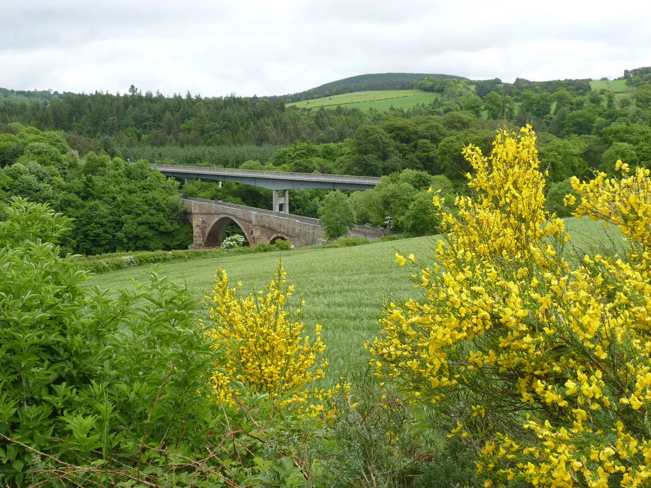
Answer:
[[(96, 150), (125, 159), (165, 159), (171, 153), (143, 148), (208, 146), (208, 150), (176, 152), (186, 164), (209, 160), (234, 166), (247, 159), (268, 159), (270, 150), (223, 150), (221, 146), (279, 146), (299, 141), (335, 142), (351, 137), (367, 118), (357, 110), (323, 115), (286, 110), (284, 103), (264, 98), (201, 98), (132, 92), (124, 95), (94, 92), (64, 94), (50, 102), (31, 100), (0, 103), (0, 120), (12, 120), (40, 129), (62, 130), (95, 139)], [(327, 122), (324, 124), (324, 118)], [(73, 139), (70, 139), (73, 141)], [(83, 142), (76, 138), (74, 142)], [(138, 148), (139, 146), (139, 148)], [(86, 149), (85, 144), (79, 148)], [(133, 149), (132, 149), (133, 148)], [(265, 156), (266, 155), (266, 156)]]

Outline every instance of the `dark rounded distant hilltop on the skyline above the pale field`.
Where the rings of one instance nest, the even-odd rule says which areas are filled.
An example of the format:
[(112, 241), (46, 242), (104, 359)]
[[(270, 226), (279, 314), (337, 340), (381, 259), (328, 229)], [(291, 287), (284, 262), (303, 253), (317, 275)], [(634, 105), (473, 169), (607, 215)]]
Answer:
[(424, 76), (432, 76), (434, 78), (467, 79), (462, 76), (431, 73), (374, 73), (338, 79), (337, 81), (331, 81), (330, 83), (325, 83), (316, 88), (310, 88), (304, 92), (265, 98), (290, 103), (301, 102), (303, 100), (314, 100), (315, 98), (340, 95), (342, 93), (378, 90), (411, 90), (411, 88), (413, 88), (413, 82)]

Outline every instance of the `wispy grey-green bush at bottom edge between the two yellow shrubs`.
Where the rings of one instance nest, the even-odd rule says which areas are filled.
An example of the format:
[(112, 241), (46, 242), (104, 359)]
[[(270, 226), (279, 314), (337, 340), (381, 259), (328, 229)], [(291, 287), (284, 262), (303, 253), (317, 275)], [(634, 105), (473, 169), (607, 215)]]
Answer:
[[(479, 488), (476, 453), (447, 439), (422, 410), (396, 400), (371, 373), (351, 375), (353, 390), (335, 398), (340, 407), (326, 435), (311, 443), (323, 487)], [(350, 398), (355, 408), (350, 409)]]

